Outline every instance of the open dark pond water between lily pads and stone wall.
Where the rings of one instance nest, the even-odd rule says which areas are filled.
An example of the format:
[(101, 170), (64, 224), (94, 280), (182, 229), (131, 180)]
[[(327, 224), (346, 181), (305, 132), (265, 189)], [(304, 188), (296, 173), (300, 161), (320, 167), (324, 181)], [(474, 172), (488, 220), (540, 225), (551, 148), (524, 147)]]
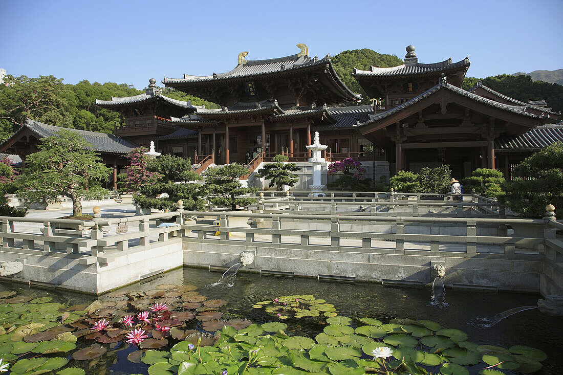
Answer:
[[(563, 373), (563, 355), (561, 355), (563, 318), (544, 315), (534, 309), (509, 316), (491, 328), (479, 328), (471, 323), (476, 319), (491, 318), (499, 312), (515, 307), (534, 306), (540, 298), (538, 294), (446, 289), (447, 304), (436, 306), (431, 303), (431, 288), (386, 287), (373, 283), (327, 283), (307, 278), (261, 277), (258, 274), (245, 272), (239, 272), (233, 286), (227, 287), (224, 284), (217, 285), (220, 277), (220, 273), (184, 268), (173, 270), (150, 282), (129, 285), (123, 289), (149, 291), (164, 283), (195, 285), (200, 294), (228, 302), (220, 309), (225, 313), (225, 319), (247, 318), (254, 323), (276, 320), (262, 309), (253, 309), (252, 305), (256, 302), (291, 294), (314, 294), (316, 298), (323, 298), (328, 303), (332, 303), (338, 315), (351, 318), (377, 318), (384, 323), (392, 318), (428, 319), (440, 323), (444, 328), (460, 329), (469, 335), (470, 341), (479, 344), (507, 348), (512, 345), (536, 347), (548, 355), (547, 360), (542, 362), (544, 367), (537, 372), (538, 374)], [(0, 291), (4, 290), (18, 291), (22, 295), (49, 296), (53, 297), (53, 302), (66, 303), (70, 300), (70, 304), (91, 302), (95, 299), (81, 294), (45, 291), (17, 284), (0, 284)], [(100, 297), (100, 300), (104, 299), (104, 296)], [(310, 319), (287, 319), (284, 323), (289, 325), (288, 333), (313, 338), (324, 327)], [(116, 346), (111, 349), (113, 350), (108, 351), (107, 355), (88, 363), (87, 373), (99, 375), (147, 373), (148, 365), (131, 363), (127, 360), (127, 355), (135, 350), (133, 347)]]

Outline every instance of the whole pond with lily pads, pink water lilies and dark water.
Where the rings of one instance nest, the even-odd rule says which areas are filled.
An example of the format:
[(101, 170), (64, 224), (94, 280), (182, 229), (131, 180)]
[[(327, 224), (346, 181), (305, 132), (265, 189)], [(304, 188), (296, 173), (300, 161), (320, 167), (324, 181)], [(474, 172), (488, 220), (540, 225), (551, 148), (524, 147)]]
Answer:
[[(178, 269), (97, 299), (0, 284), (0, 359), (14, 374), (560, 374), (563, 320), (538, 295), (319, 283)], [(390, 356), (388, 356), (390, 354)], [(380, 356), (383, 358), (376, 358)], [(388, 358), (385, 358), (388, 356)], [(0, 367), (1, 369), (1, 367)], [(10, 373), (7, 372), (7, 373)]]

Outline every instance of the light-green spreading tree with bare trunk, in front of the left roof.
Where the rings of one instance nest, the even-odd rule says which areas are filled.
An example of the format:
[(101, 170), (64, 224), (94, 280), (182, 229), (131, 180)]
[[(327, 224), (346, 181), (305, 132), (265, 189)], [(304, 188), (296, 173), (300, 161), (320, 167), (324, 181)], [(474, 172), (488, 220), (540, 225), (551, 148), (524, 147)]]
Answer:
[(41, 202), (59, 195), (73, 203), (73, 216), (82, 216), (82, 198), (101, 198), (107, 194), (100, 182), (111, 169), (80, 135), (61, 130), (41, 140), (39, 151), (25, 159), (20, 195), (28, 202)]

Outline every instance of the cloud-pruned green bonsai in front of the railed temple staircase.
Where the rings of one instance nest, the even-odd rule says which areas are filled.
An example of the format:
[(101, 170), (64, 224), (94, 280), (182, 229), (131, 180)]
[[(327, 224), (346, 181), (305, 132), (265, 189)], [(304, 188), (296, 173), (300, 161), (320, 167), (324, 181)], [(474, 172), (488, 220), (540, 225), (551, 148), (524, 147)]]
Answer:
[(203, 172), (205, 197), (218, 206), (230, 206), (235, 210), (237, 206), (244, 207), (256, 202), (256, 198), (241, 197), (249, 193), (256, 193), (256, 187), (243, 187), (239, 178), (248, 175), (248, 169), (239, 163), (208, 168)]

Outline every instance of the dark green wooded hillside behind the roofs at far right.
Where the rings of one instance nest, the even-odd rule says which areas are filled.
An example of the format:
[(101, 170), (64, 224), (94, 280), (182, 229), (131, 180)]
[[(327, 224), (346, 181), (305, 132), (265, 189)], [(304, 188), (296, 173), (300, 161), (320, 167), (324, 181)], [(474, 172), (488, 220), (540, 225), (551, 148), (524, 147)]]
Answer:
[(563, 109), (563, 86), (557, 83), (532, 81), (529, 75), (499, 74), (482, 79), (466, 77), (463, 79), (462, 88), (468, 90), (479, 81), (482, 81), (486, 87), (513, 99), (525, 103), (528, 100), (544, 99), (548, 108), (553, 108), (553, 111), (558, 112)]

